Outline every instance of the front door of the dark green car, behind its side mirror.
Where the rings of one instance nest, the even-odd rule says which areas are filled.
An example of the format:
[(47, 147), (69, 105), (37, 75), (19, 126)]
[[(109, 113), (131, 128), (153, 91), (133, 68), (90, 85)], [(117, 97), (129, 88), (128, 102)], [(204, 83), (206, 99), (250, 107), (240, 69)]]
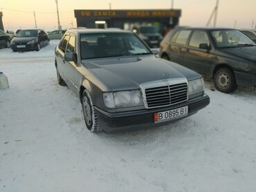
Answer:
[[(209, 49), (199, 48), (200, 44), (207, 44)], [(194, 30), (188, 43), (188, 50), (184, 54), (185, 66), (202, 75), (208, 75), (214, 57), (212, 47), (206, 31)]]

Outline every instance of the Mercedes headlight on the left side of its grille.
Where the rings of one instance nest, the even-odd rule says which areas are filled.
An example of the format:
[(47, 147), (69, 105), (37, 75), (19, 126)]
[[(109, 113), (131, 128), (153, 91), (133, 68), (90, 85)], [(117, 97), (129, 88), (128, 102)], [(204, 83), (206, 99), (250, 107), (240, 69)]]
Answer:
[(140, 90), (103, 93), (103, 100), (107, 108), (143, 106), (143, 98)]

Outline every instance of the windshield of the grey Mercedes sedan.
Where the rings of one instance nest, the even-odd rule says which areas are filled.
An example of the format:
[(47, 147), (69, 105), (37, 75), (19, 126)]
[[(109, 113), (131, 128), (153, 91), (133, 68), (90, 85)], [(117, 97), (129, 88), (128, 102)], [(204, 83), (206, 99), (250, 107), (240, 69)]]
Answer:
[(136, 35), (124, 32), (82, 34), (80, 50), (81, 59), (151, 54)]

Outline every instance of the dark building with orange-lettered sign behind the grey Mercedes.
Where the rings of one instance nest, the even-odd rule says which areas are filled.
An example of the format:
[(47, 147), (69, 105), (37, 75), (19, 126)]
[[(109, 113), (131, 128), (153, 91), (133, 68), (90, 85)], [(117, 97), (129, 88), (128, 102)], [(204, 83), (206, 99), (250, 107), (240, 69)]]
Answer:
[(74, 10), (77, 27), (121, 28), (151, 23), (159, 29), (179, 24), (181, 10)]

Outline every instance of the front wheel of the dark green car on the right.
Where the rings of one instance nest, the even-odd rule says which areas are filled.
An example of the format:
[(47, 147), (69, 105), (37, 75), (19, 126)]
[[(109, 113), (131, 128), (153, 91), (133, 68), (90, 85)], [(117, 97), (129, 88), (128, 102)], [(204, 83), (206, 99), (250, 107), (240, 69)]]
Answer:
[(214, 85), (222, 93), (232, 93), (237, 88), (235, 75), (228, 68), (219, 68), (213, 77)]

